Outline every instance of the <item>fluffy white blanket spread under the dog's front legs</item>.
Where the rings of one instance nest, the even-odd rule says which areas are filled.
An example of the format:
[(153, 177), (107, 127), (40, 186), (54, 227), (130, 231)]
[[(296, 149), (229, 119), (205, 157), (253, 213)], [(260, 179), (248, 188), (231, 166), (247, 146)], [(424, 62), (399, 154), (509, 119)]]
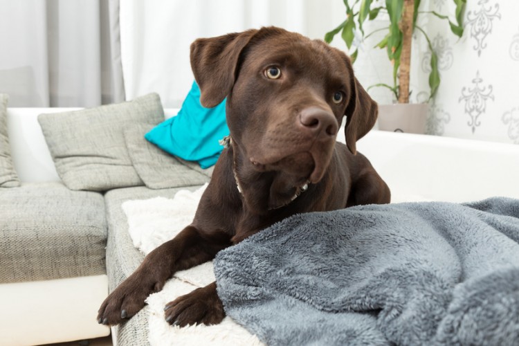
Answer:
[[(156, 197), (126, 201), (122, 209), (128, 219), (129, 233), (134, 246), (147, 255), (157, 246), (172, 239), (193, 217), (206, 185), (190, 192), (181, 190), (174, 199)], [(256, 336), (248, 333), (226, 317), (219, 325), (172, 327), (164, 320), (165, 304), (197, 287), (215, 281), (212, 262), (179, 271), (164, 289), (149, 295), (149, 343), (151, 345), (262, 345)]]

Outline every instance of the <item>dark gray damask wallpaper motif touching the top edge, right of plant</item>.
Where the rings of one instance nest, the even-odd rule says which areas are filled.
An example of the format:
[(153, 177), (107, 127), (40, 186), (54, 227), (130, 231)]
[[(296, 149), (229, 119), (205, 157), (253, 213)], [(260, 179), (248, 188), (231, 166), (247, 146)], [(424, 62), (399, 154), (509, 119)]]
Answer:
[(474, 50), (477, 51), (477, 56), (480, 56), (482, 50), (486, 48), (484, 40), (492, 32), (493, 20), (501, 19), (499, 4), (485, 6), (488, 2), (489, 0), (478, 1), (477, 4), (481, 6), (480, 9), (477, 11), (470, 10), (466, 14), (466, 26), (471, 26), (471, 37), (476, 40)]

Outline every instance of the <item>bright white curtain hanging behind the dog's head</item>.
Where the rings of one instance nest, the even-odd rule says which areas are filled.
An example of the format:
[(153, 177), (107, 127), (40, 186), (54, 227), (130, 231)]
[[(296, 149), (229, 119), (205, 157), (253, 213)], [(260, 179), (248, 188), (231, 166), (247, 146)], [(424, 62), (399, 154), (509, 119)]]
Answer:
[(179, 107), (192, 84), (189, 46), (198, 37), (274, 25), (322, 39), (343, 17), (336, 0), (121, 0), (126, 97), (156, 91), (165, 107)]

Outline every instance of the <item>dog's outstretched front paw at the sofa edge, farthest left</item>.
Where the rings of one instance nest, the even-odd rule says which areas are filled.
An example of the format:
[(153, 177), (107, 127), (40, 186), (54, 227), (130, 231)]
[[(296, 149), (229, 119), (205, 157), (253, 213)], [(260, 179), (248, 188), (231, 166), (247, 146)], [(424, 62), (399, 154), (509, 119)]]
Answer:
[(161, 289), (162, 284), (159, 282), (130, 276), (102, 302), (98, 322), (102, 325), (118, 325), (143, 309), (147, 296)]

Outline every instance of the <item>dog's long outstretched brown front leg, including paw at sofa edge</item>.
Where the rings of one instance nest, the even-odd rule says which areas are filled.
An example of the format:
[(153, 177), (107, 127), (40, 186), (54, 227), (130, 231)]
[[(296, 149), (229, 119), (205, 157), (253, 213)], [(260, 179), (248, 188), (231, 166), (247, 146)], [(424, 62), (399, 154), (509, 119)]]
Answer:
[(150, 293), (160, 291), (176, 271), (212, 260), (230, 239), (220, 232), (201, 233), (194, 226), (184, 228), (169, 242), (149, 253), (137, 270), (122, 282), (98, 311), (98, 322), (117, 325), (144, 307)]

